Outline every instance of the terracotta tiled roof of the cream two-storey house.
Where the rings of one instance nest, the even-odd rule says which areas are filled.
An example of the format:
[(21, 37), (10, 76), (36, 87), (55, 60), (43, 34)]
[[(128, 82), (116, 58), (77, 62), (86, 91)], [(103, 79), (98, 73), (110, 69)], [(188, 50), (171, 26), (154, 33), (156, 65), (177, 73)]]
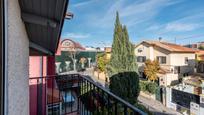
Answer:
[(147, 43), (151, 46), (160, 47), (162, 49), (165, 49), (165, 50), (170, 51), (170, 52), (175, 52), (175, 53), (195, 53), (195, 51), (196, 51), (196, 50), (193, 50), (191, 48), (183, 47), (181, 45), (168, 43), (168, 42), (142, 41), (142, 43)]

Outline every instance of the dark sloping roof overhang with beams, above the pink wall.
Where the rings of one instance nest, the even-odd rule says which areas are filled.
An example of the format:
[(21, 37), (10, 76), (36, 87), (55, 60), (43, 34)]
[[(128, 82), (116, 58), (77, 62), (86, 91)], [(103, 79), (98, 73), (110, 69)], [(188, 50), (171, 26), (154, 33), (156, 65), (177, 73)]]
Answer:
[(19, 0), (30, 40), (30, 55), (57, 51), (69, 0)]

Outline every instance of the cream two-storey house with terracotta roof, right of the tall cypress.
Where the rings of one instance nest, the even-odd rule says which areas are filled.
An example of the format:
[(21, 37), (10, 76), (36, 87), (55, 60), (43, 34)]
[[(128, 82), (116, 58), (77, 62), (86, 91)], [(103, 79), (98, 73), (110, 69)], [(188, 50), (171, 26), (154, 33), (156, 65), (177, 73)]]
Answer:
[(159, 42), (142, 41), (136, 45), (135, 55), (139, 67), (139, 73), (144, 77), (144, 63), (147, 59), (158, 60), (160, 71), (158, 73), (160, 85), (171, 85), (172, 81), (180, 76), (194, 73), (195, 51), (180, 45)]

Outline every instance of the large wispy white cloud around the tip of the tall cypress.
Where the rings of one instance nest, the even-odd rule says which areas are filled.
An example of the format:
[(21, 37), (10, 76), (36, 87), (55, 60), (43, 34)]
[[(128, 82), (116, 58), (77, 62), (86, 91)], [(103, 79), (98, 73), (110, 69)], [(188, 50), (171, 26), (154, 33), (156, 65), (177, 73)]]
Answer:
[(125, 25), (135, 26), (154, 19), (164, 7), (176, 3), (178, 2), (171, 0), (140, 0), (127, 4), (126, 0), (118, 0), (112, 4), (100, 20), (97, 19), (96, 21), (102, 23), (102, 26), (110, 26), (115, 19), (116, 11), (119, 11)]

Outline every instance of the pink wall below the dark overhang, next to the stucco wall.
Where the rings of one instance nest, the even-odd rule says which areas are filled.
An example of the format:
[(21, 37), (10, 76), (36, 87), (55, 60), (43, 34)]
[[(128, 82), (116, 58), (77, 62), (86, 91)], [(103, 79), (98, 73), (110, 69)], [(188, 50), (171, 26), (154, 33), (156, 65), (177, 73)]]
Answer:
[[(33, 77), (42, 77), (47, 75), (47, 57), (46, 56), (30, 56), (29, 57), (29, 78)], [(37, 99), (39, 96), (37, 95), (39, 92), (39, 87), (37, 87), (37, 79), (30, 79), (29, 86), (30, 86), (30, 115), (37, 115), (38, 107), (37, 107)], [(40, 88), (42, 88), (42, 112), (43, 115), (46, 114), (46, 87), (45, 81)]]

